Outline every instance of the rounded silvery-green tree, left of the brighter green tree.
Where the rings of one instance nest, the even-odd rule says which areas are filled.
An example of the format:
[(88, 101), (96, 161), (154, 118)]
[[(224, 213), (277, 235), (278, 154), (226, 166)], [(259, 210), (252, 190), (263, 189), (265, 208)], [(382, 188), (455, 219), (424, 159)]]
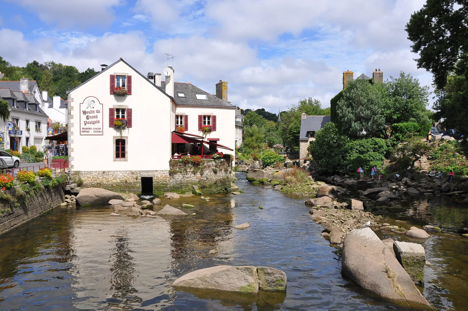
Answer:
[(385, 116), (380, 83), (366, 80), (348, 83), (336, 105), (336, 124), (341, 133), (352, 138), (385, 135)]

